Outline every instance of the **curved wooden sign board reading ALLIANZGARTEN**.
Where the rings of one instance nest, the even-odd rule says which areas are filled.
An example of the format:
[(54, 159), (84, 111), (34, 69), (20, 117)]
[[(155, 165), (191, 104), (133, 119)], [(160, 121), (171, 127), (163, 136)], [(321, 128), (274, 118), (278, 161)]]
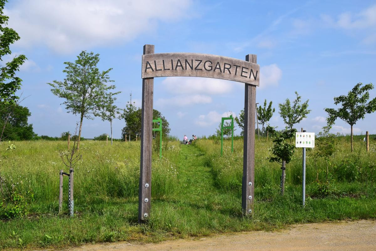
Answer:
[(188, 76), (260, 85), (258, 64), (200, 53), (154, 53), (142, 56), (142, 78)]

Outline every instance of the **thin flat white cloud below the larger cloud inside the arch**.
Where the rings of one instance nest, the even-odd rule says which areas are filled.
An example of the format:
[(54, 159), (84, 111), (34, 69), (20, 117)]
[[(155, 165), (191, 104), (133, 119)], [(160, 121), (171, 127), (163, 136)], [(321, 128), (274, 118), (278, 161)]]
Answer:
[(206, 104), (211, 103), (212, 98), (205, 95), (179, 95), (171, 98), (161, 98), (156, 101), (156, 105), (176, 105), (176, 106), (186, 106), (186, 105), (196, 105), (196, 104)]

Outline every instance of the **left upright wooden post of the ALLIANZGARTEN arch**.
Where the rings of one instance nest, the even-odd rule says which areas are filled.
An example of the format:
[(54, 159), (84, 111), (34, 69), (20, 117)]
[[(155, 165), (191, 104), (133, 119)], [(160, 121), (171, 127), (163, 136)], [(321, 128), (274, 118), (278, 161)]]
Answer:
[[(153, 45), (144, 45), (144, 55), (153, 53)], [(138, 222), (140, 223), (146, 221), (150, 216), (154, 78), (143, 78), (142, 82), (141, 164), (138, 196)]]

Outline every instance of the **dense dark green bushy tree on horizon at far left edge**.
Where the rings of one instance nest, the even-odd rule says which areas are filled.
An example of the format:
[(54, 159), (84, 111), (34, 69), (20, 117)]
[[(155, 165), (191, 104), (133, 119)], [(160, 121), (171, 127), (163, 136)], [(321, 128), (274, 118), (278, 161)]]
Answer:
[(31, 140), (35, 133), (33, 125), (28, 123), (31, 115), (27, 107), (17, 103), (0, 103), (0, 141)]

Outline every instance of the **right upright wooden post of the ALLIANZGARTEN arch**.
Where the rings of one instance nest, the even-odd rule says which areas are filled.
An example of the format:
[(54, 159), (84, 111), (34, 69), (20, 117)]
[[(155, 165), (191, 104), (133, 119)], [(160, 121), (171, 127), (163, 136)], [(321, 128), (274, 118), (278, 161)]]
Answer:
[[(246, 61), (257, 63), (257, 56), (249, 54)], [(256, 85), (245, 84), (244, 93), (244, 145), (243, 145), (243, 181), (241, 205), (245, 215), (254, 212), (255, 193), (255, 112)]]

